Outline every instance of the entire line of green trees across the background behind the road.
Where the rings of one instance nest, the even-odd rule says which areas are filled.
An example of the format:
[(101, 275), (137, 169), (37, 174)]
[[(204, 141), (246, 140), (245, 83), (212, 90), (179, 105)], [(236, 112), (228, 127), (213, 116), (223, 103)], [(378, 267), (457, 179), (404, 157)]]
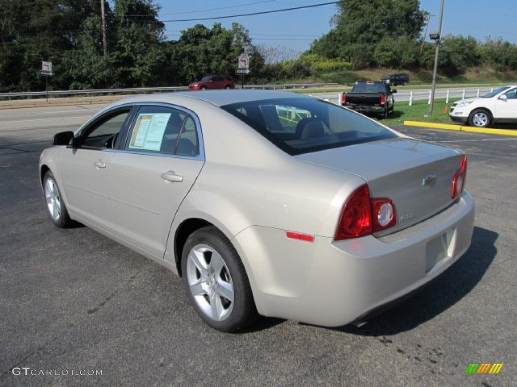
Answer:
[[(234, 73), (241, 52), (250, 56), (249, 80), (257, 83), (376, 67), (430, 70), (434, 63), (418, 0), (344, 0), (326, 35), (282, 60), (253, 44), (237, 23), (194, 25), (170, 41), (154, 0), (112, 4), (104, 2), (102, 19), (100, 1), (0, 0), (0, 92), (42, 90), (41, 61), (53, 63), (56, 90), (185, 86), (205, 74)], [(446, 36), (441, 44), (438, 69), (445, 76), (479, 66), (517, 68), (517, 46), (502, 39)]]

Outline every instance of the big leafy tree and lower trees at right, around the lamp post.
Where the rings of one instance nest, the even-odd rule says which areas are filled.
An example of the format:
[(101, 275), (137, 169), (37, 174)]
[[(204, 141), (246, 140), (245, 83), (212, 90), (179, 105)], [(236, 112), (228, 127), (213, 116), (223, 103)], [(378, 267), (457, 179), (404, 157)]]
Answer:
[[(431, 70), (435, 43), (423, 35), (429, 17), (420, 10), (419, 0), (346, 0), (338, 4), (333, 28), (312, 43), (309, 53), (344, 61), (354, 70)], [(500, 38), (479, 42), (472, 36), (445, 35), (440, 44), (438, 69), (445, 76), (480, 66), (517, 69), (517, 45)]]

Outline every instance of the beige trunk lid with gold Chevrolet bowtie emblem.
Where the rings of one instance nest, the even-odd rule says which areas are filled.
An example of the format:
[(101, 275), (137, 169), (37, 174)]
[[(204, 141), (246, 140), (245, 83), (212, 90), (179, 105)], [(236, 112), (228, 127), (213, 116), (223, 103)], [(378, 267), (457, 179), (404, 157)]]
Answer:
[(305, 162), (361, 176), (371, 197), (389, 198), (397, 224), (386, 235), (443, 211), (451, 198), (459, 150), (410, 138), (394, 138), (297, 155)]

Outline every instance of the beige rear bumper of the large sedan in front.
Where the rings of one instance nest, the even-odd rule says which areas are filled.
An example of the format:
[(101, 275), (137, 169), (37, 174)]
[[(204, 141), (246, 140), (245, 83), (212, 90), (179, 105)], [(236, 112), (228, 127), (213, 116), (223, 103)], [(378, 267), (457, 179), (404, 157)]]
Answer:
[(287, 239), (285, 230), (251, 227), (233, 242), (259, 313), (342, 326), (360, 322), (450, 267), (470, 245), (474, 214), (474, 201), (464, 192), (437, 216), (381, 238), (316, 236), (309, 243)]

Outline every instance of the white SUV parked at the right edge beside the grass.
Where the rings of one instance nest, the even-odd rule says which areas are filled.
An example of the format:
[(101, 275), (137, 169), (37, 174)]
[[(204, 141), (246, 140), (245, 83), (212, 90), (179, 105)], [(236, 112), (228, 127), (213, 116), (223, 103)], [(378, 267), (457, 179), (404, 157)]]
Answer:
[(454, 122), (477, 127), (517, 122), (517, 85), (500, 87), (479, 98), (454, 102), (449, 117)]

